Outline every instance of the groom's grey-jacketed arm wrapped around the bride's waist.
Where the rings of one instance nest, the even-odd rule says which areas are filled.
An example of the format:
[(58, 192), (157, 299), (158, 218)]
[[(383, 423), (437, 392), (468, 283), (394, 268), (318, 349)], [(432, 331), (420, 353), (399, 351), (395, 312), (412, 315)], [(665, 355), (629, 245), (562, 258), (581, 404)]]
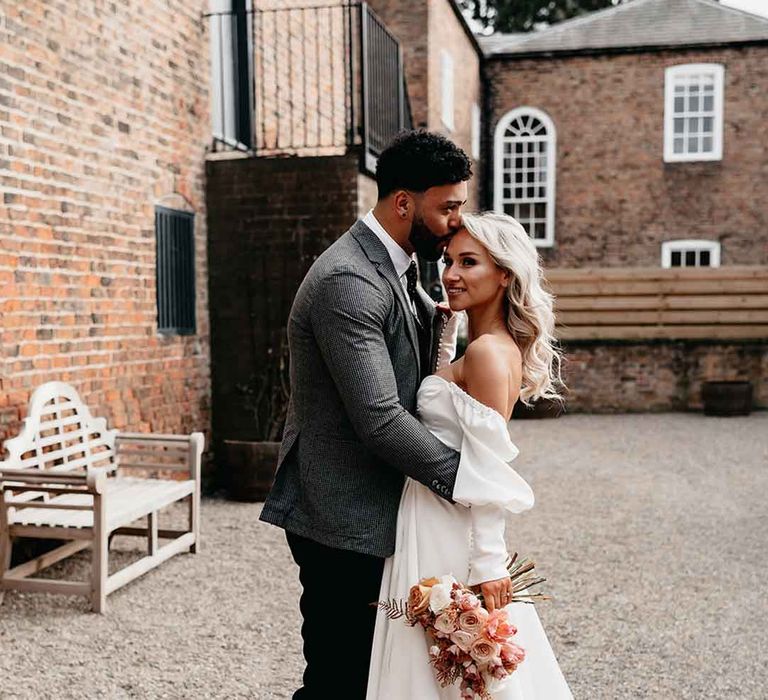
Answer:
[(338, 269), (318, 283), (312, 328), (355, 432), (385, 462), (448, 500), (459, 453), (400, 404), (384, 339), (391, 300), (370, 280)]

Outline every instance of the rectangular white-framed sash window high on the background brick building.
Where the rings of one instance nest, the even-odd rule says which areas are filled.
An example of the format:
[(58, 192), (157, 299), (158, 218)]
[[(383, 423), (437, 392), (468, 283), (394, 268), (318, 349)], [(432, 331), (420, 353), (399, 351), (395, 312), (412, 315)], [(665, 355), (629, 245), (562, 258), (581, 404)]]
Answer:
[(723, 84), (719, 63), (670, 66), (664, 76), (664, 160), (721, 160)]

